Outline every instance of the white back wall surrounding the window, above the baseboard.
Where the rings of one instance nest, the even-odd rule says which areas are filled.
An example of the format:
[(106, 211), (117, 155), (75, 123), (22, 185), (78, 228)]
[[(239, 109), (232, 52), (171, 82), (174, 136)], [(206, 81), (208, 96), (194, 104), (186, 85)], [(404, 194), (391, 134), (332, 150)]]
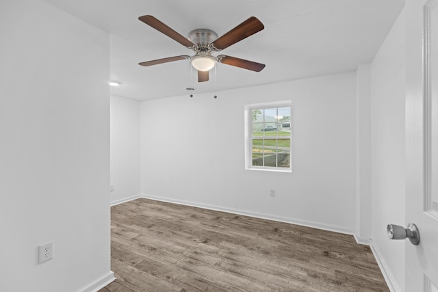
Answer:
[[(355, 73), (215, 94), (142, 102), (143, 194), (353, 233)], [(284, 100), (292, 174), (244, 170), (244, 105)]]

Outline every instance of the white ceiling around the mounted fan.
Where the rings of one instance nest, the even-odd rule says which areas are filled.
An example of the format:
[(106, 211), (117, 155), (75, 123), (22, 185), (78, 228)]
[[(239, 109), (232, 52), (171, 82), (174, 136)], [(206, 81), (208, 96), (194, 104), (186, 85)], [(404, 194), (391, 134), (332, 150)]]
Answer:
[[(46, 1), (110, 32), (111, 79), (122, 83), (112, 88), (112, 94), (138, 100), (355, 70), (372, 60), (404, 6), (404, 0)], [(216, 77), (212, 70), (209, 81), (198, 83), (188, 60), (139, 66), (152, 59), (193, 55), (138, 20), (146, 14), (183, 36), (198, 28), (222, 36), (256, 16), (265, 29), (220, 53), (263, 63), (266, 68), (253, 72), (218, 64)]]

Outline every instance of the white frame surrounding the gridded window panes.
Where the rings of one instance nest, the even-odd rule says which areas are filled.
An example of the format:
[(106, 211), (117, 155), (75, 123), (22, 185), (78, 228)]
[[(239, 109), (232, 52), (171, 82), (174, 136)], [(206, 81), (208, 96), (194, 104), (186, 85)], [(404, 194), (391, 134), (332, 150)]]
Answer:
[[(253, 116), (251, 114), (253, 109), (272, 109), (281, 107), (291, 108), (291, 119), (292, 119), (292, 103), (291, 101), (276, 101), (271, 103), (257, 103), (252, 105), (245, 105), (244, 110), (244, 133), (245, 133), (245, 169), (246, 170), (261, 170), (268, 172), (292, 172), (292, 131), (289, 136), (282, 136), (284, 139), (290, 139), (291, 143), (289, 146), (289, 168), (281, 168), (278, 166), (259, 166), (253, 165), (253, 139), (260, 139), (259, 136), (253, 137)], [(291, 121), (292, 123), (292, 121)], [(263, 137), (265, 139), (279, 139), (277, 135), (275, 138)], [(282, 138), (280, 138), (282, 139)]]

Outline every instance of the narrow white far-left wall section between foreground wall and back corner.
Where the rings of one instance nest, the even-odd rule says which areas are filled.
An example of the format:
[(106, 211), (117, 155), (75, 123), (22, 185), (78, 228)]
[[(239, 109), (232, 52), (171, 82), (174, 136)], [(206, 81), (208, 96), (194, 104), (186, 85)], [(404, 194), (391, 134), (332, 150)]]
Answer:
[(111, 202), (140, 196), (140, 102), (111, 96)]

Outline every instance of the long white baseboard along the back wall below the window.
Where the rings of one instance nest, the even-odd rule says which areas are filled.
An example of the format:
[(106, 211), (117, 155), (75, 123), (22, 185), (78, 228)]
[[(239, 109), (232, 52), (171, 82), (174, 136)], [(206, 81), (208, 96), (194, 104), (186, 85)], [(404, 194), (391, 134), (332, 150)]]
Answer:
[(252, 213), (252, 212), (242, 211), (242, 210), (237, 210), (237, 209), (227, 209), (227, 208), (216, 207), (216, 206), (211, 206), (211, 205), (207, 205), (207, 204), (198, 204), (195, 202), (187, 202), (187, 201), (183, 201), (183, 200), (173, 200), (170, 198), (162, 198), (162, 197), (154, 197), (154, 196), (146, 196), (146, 195), (142, 195), (140, 197), (145, 198), (145, 199), (149, 199), (149, 200), (157, 200), (157, 201), (161, 201), (161, 202), (182, 204), (182, 205), (190, 206), (190, 207), (198, 207), (198, 208), (220, 211), (220, 212), (225, 212), (225, 213), (233, 213), (233, 214), (255, 217), (255, 218), (260, 218), (260, 219), (285, 222), (285, 223), (289, 223), (289, 224), (296, 224), (296, 225), (300, 225), (300, 226), (328, 230), (328, 231), (333, 231), (336, 233), (344, 233), (344, 234), (348, 234), (348, 235), (354, 235), (354, 232), (352, 230), (347, 230), (345, 228), (341, 228), (338, 226), (329, 226), (329, 225), (318, 224), (318, 223), (314, 223), (314, 222), (305, 222), (305, 221), (301, 221), (301, 220), (295, 220), (293, 218), (285, 218), (285, 217), (277, 217), (277, 216), (266, 215), (266, 214)]

